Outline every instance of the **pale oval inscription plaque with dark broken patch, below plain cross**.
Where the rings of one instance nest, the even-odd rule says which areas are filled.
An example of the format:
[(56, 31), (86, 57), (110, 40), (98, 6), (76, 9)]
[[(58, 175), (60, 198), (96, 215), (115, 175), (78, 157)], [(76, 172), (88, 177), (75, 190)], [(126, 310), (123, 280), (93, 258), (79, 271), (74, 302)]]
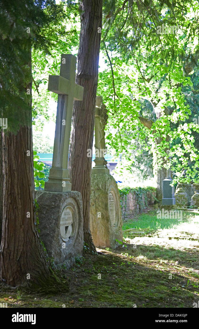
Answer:
[(66, 206), (61, 215), (60, 220), (60, 235), (63, 241), (68, 241), (73, 230), (73, 209), (70, 206)]

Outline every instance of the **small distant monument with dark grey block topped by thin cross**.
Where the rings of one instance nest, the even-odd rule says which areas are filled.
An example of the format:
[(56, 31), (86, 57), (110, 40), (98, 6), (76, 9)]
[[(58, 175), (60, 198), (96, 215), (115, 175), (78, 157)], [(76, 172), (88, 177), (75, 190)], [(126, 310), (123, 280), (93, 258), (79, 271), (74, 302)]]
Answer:
[[(167, 155), (169, 155), (169, 150), (166, 151)], [(176, 200), (174, 197), (174, 187), (170, 186), (172, 182), (171, 178), (171, 168), (170, 168), (170, 160), (171, 157), (167, 159), (167, 170), (166, 170), (166, 178), (163, 180), (163, 191), (162, 191), (162, 206), (175, 205)]]

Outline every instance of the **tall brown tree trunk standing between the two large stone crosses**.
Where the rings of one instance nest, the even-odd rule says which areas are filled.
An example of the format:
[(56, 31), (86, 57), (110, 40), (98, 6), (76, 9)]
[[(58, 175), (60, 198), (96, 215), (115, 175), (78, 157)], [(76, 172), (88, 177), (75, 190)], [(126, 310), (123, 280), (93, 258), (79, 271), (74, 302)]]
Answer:
[[(83, 0), (80, 4), (81, 32), (78, 51), (76, 83), (84, 87), (84, 99), (74, 102), (72, 136), (70, 143), (69, 172), (72, 190), (82, 193), (84, 241), (90, 252), (96, 252), (89, 223), (90, 179), (97, 92), (98, 64), (102, 27), (102, 0)], [(100, 28), (100, 29), (99, 29)]]

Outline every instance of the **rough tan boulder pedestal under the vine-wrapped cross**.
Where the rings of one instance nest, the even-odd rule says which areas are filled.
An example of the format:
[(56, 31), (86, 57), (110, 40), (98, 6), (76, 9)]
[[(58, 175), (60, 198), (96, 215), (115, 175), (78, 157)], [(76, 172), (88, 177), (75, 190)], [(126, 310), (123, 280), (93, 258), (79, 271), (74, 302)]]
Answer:
[(98, 248), (116, 248), (123, 241), (117, 183), (109, 174), (91, 175), (90, 231)]

